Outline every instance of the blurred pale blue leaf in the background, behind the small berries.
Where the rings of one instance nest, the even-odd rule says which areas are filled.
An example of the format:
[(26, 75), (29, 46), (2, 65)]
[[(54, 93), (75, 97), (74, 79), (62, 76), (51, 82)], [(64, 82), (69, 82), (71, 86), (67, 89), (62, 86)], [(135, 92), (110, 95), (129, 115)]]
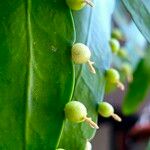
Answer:
[(120, 68), (122, 60), (123, 62), (127, 61), (130, 62), (132, 67), (135, 69), (141, 57), (143, 57), (146, 40), (137, 29), (135, 23), (131, 20), (126, 9), (119, 0), (117, 1), (113, 19), (115, 21), (115, 24), (117, 24), (117, 26), (123, 32), (123, 35), (126, 39), (124, 48), (128, 53), (128, 57), (125, 59), (120, 60), (120, 58), (118, 59), (117, 57), (114, 57), (113, 63), (115, 63), (117, 68)]

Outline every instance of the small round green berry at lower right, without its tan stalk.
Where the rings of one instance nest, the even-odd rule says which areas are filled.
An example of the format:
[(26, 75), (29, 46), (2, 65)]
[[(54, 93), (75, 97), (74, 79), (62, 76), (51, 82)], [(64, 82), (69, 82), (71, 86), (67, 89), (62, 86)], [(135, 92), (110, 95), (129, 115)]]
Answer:
[(98, 105), (98, 112), (103, 117), (110, 117), (114, 113), (114, 108), (107, 102), (101, 102)]

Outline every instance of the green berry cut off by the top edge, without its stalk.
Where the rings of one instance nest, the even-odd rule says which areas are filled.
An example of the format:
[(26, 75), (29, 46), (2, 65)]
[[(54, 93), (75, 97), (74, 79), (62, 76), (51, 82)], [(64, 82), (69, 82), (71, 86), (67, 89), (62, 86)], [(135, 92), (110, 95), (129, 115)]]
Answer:
[(72, 10), (80, 10), (86, 5), (83, 0), (66, 0), (66, 3)]

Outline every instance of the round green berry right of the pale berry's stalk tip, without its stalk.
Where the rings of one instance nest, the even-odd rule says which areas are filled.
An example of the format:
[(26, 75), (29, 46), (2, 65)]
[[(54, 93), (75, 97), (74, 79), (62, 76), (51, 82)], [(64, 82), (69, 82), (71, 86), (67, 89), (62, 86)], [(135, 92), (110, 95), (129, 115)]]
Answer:
[(113, 68), (106, 71), (105, 77), (108, 83), (117, 83), (120, 80), (119, 72)]

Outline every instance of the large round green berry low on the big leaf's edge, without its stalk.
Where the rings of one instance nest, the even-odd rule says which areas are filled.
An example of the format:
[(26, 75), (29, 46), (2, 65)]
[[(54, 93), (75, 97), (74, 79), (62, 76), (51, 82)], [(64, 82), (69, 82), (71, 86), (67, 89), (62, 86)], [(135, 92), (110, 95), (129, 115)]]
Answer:
[(83, 122), (87, 116), (86, 107), (78, 101), (71, 101), (65, 106), (65, 116), (72, 122)]

